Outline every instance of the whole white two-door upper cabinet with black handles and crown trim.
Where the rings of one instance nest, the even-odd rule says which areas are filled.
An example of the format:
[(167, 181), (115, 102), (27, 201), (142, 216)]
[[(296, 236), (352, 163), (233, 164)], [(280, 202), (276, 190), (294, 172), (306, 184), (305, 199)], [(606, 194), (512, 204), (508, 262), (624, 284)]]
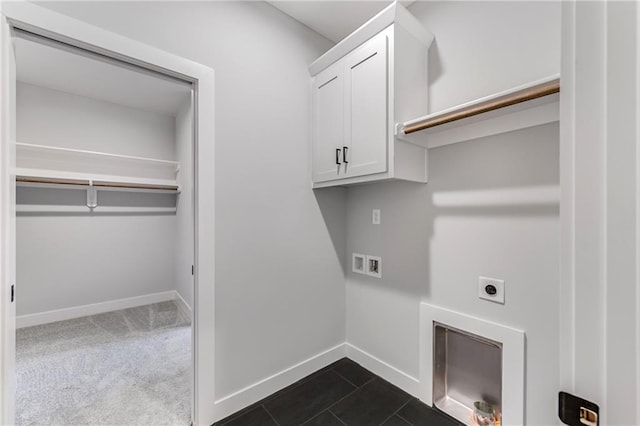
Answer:
[(310, 67), (313, 187), (426, 182), (426, 144), (395, 124), (427, 110), (433, 35), (394, 3)]

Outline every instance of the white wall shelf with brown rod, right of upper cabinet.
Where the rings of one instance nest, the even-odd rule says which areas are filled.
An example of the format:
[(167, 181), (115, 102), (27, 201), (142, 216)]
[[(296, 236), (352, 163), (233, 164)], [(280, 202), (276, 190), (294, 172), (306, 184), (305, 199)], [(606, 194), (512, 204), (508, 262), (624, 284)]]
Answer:
[[(553, 75), (443, 111), (398, 123), (396, 136), (429, 148), (559, 120), (560, 78)], [(424, 137), (413, 138), (416, 132)]]

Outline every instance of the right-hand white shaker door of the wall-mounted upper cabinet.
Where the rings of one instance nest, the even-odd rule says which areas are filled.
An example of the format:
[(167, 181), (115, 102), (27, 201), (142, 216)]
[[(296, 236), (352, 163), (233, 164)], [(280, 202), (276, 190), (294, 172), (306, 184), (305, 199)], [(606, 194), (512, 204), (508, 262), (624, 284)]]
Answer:
[(346, 58), (347, 177), (387, 170), (387, 46), (382, 33)]

